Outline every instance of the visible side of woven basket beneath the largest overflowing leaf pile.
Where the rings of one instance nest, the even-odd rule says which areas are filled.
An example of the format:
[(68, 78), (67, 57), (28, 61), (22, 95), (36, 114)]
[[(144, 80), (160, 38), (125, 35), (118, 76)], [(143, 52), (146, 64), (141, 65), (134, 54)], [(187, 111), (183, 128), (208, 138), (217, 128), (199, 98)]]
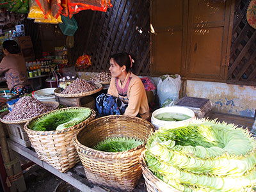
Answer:
[(145, 179), (145, 184), (147, 186), (147, 191), (148, 192), (156, 192), (156, 191), (157, 192), (166, 192), (166, 191), (181, 192), (175, 188), (172, 188), (172, 186), (166, 184), (165, 182), (163, 182), (163, 180), (159, 179), (158, 177), (156, 177), (156, 175), (150, 172), (144, 160), (144, 152), (141, 153), (140, 164), (142, 168), (142, 175)]

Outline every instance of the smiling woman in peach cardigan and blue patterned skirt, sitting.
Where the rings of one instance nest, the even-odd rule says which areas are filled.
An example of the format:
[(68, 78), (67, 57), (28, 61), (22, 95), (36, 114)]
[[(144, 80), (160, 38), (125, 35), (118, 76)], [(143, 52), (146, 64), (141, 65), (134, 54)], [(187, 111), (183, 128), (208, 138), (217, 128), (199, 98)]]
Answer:
[(114, 54), (110, 59), (111, 82), (108, 93), (102, 93), (96, 99), (100, 116), (130, 115), (149, 117), (148, 99), (140, 77), (130, 71), (131, 56), (126, 52)]

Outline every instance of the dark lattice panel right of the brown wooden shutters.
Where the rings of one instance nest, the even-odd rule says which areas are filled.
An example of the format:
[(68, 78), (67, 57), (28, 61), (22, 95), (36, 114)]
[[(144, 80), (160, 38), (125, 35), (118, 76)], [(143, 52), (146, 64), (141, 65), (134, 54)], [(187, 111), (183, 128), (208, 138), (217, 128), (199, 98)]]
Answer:
[(227, 82), (256, 85), (256, 30), (246, 20), (250, 0), (236, 0)]

